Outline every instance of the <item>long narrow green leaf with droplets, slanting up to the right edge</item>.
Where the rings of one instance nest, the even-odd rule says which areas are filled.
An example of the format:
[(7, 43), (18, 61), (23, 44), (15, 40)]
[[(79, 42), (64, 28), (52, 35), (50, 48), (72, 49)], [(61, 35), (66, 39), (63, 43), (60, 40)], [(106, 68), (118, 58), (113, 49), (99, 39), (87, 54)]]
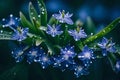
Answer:
[(88, 44), (88, 43), (93, 42), (94, 40), (96, 40), (98, 38), (101, 38), (101, 37), (105, 36), (110, 31), (112, 31), (118, 23), (120, 23), (120, 18), (117, 18), (116, 20), (114, 20), (111, 24), (109, 24), (107, 27), (105, 27), (99, 33), (87, 38), (83, 43)]

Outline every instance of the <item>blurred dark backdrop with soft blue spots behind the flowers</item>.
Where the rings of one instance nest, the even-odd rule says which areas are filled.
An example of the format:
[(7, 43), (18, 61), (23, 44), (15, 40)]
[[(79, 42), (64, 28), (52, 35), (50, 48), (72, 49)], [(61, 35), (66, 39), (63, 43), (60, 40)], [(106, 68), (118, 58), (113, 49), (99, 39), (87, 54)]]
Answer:
[[(19, 11), (24, 14), (28, 14), (28, 4), (29, 1), (36, 4), (36, 0), (0, 0), (0, 20), (2, 18), (8, 17), (10, 14), (19, 16)], [(69, 11), (73, 13), (73, 20), (81, 20), (86, 23), (86, 26), (93, 23), (92, 26), (95, 27), (95, 33), (99, 32), (106, 25), (111, 23), (117, 17), (120, 17), (120, 0), (44, 0), (47, 10), (48, 17), (53, 13), (57, 13), (59, 10)], [(35, 5), (36, 6), (36, 5)], [(109, 37), (113, 37), (114, 42), (120, 44), (120, 26), (109, 33)], [(87, 28), (86, 28), (87, 29)], [(90, 30), (92, 31), (93, 28)], [(6, 41), (0, 41), (0, 74), (8, 70), (10, 67), (15, 65), (14, 59), (11, 58), (8, 43)], [(7, 56), (6, 56), (7, 55)], [(100, 63), (100, 64), (98, 64)], [(14, 64), (14, 65), (13, 65)], [(97, 64), (97, 65), (96, 65)], [(108, 65), (109, 63), (106, 59), (99, 59), (95, 61), (95, 65), (91, 66), (91, 74), (88, 76), (82, 76), (79, 78), (81, 80), (120, 80), (118, 74), (112, 71), (112, 68)], [(76, 79), (73, 73), (66, 71), (61, 72), (59, 70), (50, 68), (48, 70), (42, 70), (43, 75), (40, 75), (39, 68), (38, 71), (36, 64), (29, 66), (29, 78), (28, 80), (79, 80)], [(52, 69), (52, 70), (51, 70)], [(52, 71), (53, 73), (51, 73)], [(38, 74), (39, 73), (39, 74)], [(27, 73), (26, 73), (27, 74)], [(57, 76), (56, 76), (56, 75)], [(2, 74), (2, 76), (5, 74)], [(7, 74), (8, 75), (8, 74)], [(55, 77), (55, 76), (56, 77)], [(1, 75), (0, 75), (1, 76)], [(52, 77), (51, 77), (52, 76)], [(27, 80), (22, 79), (17, 76), (17, 80)], [(58, 78), (58, 79), (57, 79)], [(6, 79), (4, 79), (6, 80)], [(7, 80), (16, 80), (10, 79)]]

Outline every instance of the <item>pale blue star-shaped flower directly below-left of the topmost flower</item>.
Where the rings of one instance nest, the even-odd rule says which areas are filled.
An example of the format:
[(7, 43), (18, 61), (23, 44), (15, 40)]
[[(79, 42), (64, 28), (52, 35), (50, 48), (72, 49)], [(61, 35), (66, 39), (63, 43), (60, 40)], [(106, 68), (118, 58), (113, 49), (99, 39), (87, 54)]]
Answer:
[(62, 34), (63, 31), (60, 30), (60, 25), (57, 25), (57, 26), (48, 25), (46, 33), (50, 34), (52, 37), (55, 37), (56, 35)]

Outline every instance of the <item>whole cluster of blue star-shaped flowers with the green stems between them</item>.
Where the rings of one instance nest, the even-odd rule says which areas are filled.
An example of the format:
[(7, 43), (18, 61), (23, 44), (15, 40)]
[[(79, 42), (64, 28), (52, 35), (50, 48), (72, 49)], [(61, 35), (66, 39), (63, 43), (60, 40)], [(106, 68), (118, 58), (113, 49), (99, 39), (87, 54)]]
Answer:
[[(96, 49), (82, 43), (81, 39), (87, 38), (88, 35), (81, 26), (77, 26), (77, 28), (74, 27), (73, 29), (65, 27), (65, 25), (74, 26), (74, 22), (71, 19), (72, 16), (73, 14), (69, 12), (65, 13), (64, 10), (62, 12), (59, 11), (59, 14), (53, 14), (52, 17), (55, 19), (55, 22), (54, 24), (46, 24), (45, 30), (38, 29), (36, 25), (39, 24), (37, 24), (35, 20), (36, 25), (33, 27), (35, 28), (35, 33), (34, 31), (30, 32), (31, 28), (29, 28), (29, 25), (28, 27), (21, 27), (21, 20), (13, 15), (10, 15), (8, 19), (3, 19), (2, 27), (11, 29), (13, 33), (11, 37), (12, 40), (17, 40), (24, 44), (25, 42), (29, 42), (26, 39), (31, 39), (31, 43), (27, 45), (27, 48), (20, 47), (12, 51), (12, 56), (15, 58), (16, 62), (21, 62), (25, 59), (29, 64), (33, 62), (40, 63), (43, 69), (51, 65), (62, 71), (67, 69), (72, 70), (76, 77), (87, 75), (89, 73), (90, 64), (97, 58), (96, 55), (94, 55)], [(30, 36), (30, 34), (32, 36)], [(68, 36), (70, 39), (65, 41)], [(39, 45), (36, 45), (37, 41)], [(66, 43), (56, 44), (55, 41), (63, 41), (63, 43)], [(79, 44), (80, 42), (81, 44)], [(115, 43), (112, 42), (112, 39), (108, 40), (103, 37), (102, 41), (98, 42), (96, 45), (99, 50), (102, 50), (102, 57), (107, 56), (108, 53), (117, 52)], [(52, 52), (56, 46), (59, 47), (58, 55), (50, 55), (49, 51)], [(116, 62), (115, 68), (120, 71), (120, 61)]]

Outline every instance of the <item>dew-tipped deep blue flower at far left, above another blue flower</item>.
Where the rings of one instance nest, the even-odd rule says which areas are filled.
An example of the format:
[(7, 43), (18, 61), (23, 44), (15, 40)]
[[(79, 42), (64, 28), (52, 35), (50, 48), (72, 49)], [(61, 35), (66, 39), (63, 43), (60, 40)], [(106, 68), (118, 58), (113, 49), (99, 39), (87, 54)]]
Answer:
[(14, 17), (12, 14), (9, 19), (2, 19), (3, 27), (9, 27), (11, 29), (15, 29), (19, 25), (20, 19)]

